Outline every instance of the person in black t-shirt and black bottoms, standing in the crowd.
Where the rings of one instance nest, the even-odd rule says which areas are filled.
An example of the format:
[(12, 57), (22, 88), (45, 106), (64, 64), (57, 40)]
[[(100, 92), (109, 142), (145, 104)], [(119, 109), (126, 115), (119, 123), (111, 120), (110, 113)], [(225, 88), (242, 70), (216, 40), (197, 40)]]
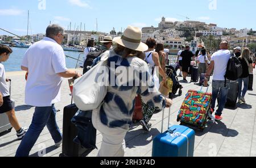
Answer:
[(191, 64), (191, 58), (194, 57), (192, 51), (190, 51), (190, 47), (187, 45), (185, 50), (182, 51), (180, 54), (182, 57), (182, 74), (183, 74), (183, 81), (187, 81), (188, 76), (188, 68)]

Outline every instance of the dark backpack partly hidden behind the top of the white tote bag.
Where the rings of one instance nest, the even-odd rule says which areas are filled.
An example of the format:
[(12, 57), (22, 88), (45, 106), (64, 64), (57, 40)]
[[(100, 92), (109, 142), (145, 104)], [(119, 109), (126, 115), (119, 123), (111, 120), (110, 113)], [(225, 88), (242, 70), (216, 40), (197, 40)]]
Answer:
[(94, 51), (90, 51), (87, 55), (87, 58), (84, 62), (84, 70), (82, 71), (82, 74), (85, 74), (87, 71), (89, 71), (89, 68), (87, 68), (88, 66), (92, 66), (93, 64), (93, 60), (96, 59), (97, 57), (99, 57), (101, 54), (105, 53), (107, 49), (100, 49), (97, 48)]

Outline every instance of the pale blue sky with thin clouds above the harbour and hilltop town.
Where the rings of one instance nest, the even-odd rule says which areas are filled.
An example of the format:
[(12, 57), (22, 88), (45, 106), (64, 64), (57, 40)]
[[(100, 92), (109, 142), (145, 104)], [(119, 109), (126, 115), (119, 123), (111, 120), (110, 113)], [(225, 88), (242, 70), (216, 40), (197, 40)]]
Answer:
[[(0, 28), (16, 35), (45, 33), (51, 23), (68, 29), (109, 33), (123, 31), (127, 25), (158, 27), (164, 16), (170, 21), (197, 20), (222, 28), (256, 30), (255, 0), (0, 0)], [(0, 35), (10, 35), (0, 30)]]

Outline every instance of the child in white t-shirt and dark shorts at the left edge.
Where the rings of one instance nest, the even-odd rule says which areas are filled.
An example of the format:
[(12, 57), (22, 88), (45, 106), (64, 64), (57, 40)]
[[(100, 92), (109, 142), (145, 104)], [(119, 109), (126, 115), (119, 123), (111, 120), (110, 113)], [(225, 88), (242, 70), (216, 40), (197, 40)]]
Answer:
[[(14, 107), (11, 104), (10, 93), (7, 86), (6, 81), (9, 81), (5, 78), (5, 67), (1, 62), (7, 61), (9, 59), (10, 54), (13, 53), (13, 50), (5, 45), (0, 45), (0, 96), (1, 100), (3, 100), (2, 106), (0, 106), (0, 114), (6, 113), (11, 125), (16, 130), (16, 135), (18, 139), (21, 140), (22, 137), (26, 134), (27, 130), (25, 128), (20, 127), (18, 120), (15, 115)], [(1, 103), (1, 101), (0, 101)]]

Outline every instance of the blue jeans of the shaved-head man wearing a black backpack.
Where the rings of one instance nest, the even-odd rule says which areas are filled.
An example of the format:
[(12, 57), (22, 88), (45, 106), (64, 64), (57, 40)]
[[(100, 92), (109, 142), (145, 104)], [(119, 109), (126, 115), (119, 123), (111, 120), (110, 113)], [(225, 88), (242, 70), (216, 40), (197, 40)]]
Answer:
[(218, 104), (218, 109), (216, 110), (215, 115), (221, 116), (222, 111), (226, 104), (226, 97), (228, 96), (229, 92), (229, 81), (226, 81), (225, 87), (225, 80), (213, 80), (212, 81), (212, 109), (215, 108), (215, 102), (220, 94), (220, 103)]

